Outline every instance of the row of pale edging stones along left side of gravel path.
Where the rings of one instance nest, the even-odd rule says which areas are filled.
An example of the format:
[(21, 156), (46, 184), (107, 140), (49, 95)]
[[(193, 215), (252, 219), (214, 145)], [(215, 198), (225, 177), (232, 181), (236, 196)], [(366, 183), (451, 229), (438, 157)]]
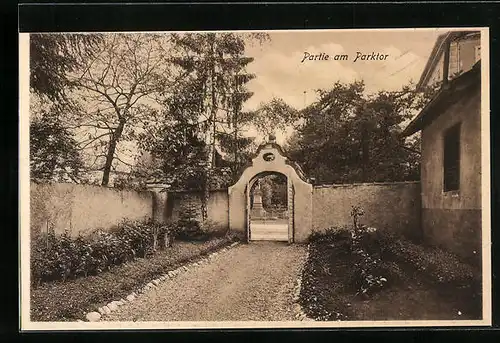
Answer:
[[(106, 316), (106, 315), (110, 314), (111, 312), (116, 311), (118, 309), (118, 307), (121, 307), (123, 305), (126, 305), (129, 302), (134, 301), (135, 299), (139, 298), (141, 295), (146, 294), (151, 289), (158, 288), (158, 285), (161, 282), (164, 282), (168, 279), (173, 279), (177, 275), (179, 275), (183, 272), (186, 272), (191, 268), (195, 268), (199, 265), (206, 264), (206, 263), (210, 262), (213, 258), (215, 258), (217, 255), (219, 255), (220, 253), (224, 253), (224, 252), (228, 251), (229, 249), (237, 246), (238, 244), (239, 244), (239, 242), (234, 242), (231, 245), (225, 246), (224, 248), (221, 248), (215, 252), (212, 252), (212, 253), (208, 254), (207, 256), (205, 256), (205, 257), (203, 257), (195, 262), (191, 262), (191, 263), (188, 263), (186, 265), (180, 266), (177, 269), (168, 271), (165, 274), (163, 274), (162, 276), (147, 283), (145, 286), (140, 288), (137, 292), (130, 293), (129, 295), (126, 296), (125, 299), (111, 301), (107, 305), (105, 305), (103, 307), (99, 307), (97, 309), (97, 311), (87, 313), (85, 316), (85, 319), (88, 322), (97, 322), (97, 321), (101, 320), (101, 318), (103, 316)], [(78, 321), (83, 322), (83, 320), (78, 320)]]

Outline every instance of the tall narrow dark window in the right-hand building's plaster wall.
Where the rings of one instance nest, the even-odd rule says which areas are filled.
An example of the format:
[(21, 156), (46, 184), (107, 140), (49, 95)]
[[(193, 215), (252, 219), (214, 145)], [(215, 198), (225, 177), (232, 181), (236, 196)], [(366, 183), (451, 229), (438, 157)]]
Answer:
[(460, 124), (444, 134), (444, 185), (445, 192), (460, 188)]

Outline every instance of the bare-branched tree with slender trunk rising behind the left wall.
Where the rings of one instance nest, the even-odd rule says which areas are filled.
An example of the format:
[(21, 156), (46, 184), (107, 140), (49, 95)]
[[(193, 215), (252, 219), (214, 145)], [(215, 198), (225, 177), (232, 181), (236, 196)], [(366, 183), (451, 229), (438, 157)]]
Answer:
[(92, 151), (89, 167), (102, 170), (102, 185), (108, 185), (114, 162), (130, 165), (123, 152), (120, 156), (119, 143), (137, 142), (160, 122), (156, 95), (175, 84), (168, 46), (156, 34), (106, 35), (83, 62), (83, 72), (71, 79), (74, 95), (84, 104), (72, 118), (73, 128), (80, 149)]

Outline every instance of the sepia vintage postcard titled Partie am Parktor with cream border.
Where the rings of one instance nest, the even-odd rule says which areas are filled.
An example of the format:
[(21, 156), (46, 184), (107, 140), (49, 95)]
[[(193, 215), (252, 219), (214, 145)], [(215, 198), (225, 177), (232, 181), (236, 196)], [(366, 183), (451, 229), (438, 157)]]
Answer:
[(491, 325), (488, 34), (21, 33), (22, 330)]

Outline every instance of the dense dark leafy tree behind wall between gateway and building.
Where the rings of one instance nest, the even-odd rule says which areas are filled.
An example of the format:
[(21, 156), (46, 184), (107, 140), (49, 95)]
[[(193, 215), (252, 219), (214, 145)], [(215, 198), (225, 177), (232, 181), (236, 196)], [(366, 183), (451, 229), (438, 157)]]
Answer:
[(301, 112), (303, 123), (286, 149), (319, 182), (415, 180), (419, 141), (408, 145), (400, 133), (429, 94), (410, 84), (367, 96), (363, 82), (337, 82)]

